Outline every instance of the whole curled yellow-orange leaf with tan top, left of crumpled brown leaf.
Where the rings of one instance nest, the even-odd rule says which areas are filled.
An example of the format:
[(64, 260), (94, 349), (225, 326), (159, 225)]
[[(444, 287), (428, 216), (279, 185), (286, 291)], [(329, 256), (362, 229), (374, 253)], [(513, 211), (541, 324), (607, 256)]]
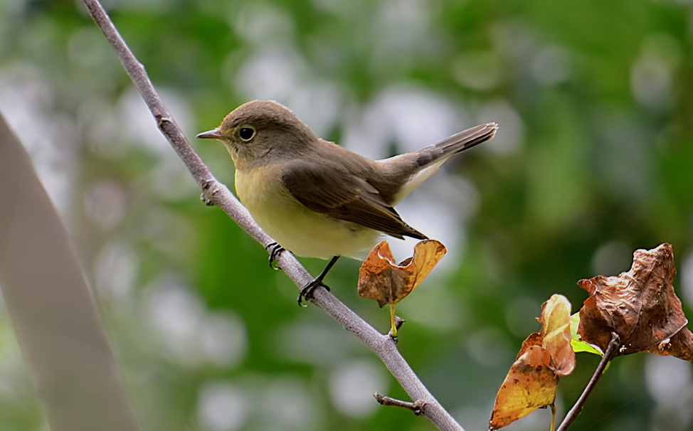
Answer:
[(541, 331), (530, 334), (522, 343), (517, 359), (496, 395), (489, 429), (509, 425), (551, 405), (556, 400), (559, 376), (575, 368), (571, 347), (571, 304), (554, 294), (541, 306)]

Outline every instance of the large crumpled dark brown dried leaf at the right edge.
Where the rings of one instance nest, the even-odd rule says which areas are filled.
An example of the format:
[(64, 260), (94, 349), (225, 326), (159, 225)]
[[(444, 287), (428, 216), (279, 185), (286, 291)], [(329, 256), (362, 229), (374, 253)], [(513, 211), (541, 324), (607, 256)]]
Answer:
[(617, 356), (647, 351), (672, 338), (688, 323), (672, 287), (675, 275), (672, 245), (662, 244), (635, 250), (628, 272), (580, 280), (590, 297), (580, 309), (578, 334), (605, 350), (614, 331), (623, 346)]

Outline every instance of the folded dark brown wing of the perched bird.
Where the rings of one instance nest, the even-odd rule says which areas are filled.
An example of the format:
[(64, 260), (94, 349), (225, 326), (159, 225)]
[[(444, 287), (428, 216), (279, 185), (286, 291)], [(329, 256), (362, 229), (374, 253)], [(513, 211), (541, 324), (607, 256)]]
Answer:
[(341, 164), (295, 161), (283, 169), (282, 180), (297, 201), (312, 211), (359, 223), (396, 238), (426, 239), (404, 223), (374, 186)]

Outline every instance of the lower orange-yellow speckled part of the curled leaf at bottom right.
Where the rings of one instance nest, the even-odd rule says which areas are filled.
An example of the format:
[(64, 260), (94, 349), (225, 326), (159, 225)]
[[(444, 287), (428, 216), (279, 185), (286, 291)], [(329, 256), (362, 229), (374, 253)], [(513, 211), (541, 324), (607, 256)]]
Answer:
[(530, 339), (537, 341), (536, 335), (532, 334), (522, 344), (517, 361), (512, 364), (498, 390), (489, 421), (490, 430), (507, 426), (556, 400), (559, 378), (549, 368), (549, 352), (541, 346), (531, 345)]

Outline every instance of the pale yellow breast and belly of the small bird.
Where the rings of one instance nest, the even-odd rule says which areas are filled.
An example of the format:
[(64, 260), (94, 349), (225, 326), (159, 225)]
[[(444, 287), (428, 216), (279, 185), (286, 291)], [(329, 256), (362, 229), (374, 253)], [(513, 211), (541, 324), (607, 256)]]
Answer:
[(258, 225), (298, 256), (358, 259), (381, 235), (358, 223), (306, 208), (281, 183), (275, 166), (237, 170), (236, 193)]

